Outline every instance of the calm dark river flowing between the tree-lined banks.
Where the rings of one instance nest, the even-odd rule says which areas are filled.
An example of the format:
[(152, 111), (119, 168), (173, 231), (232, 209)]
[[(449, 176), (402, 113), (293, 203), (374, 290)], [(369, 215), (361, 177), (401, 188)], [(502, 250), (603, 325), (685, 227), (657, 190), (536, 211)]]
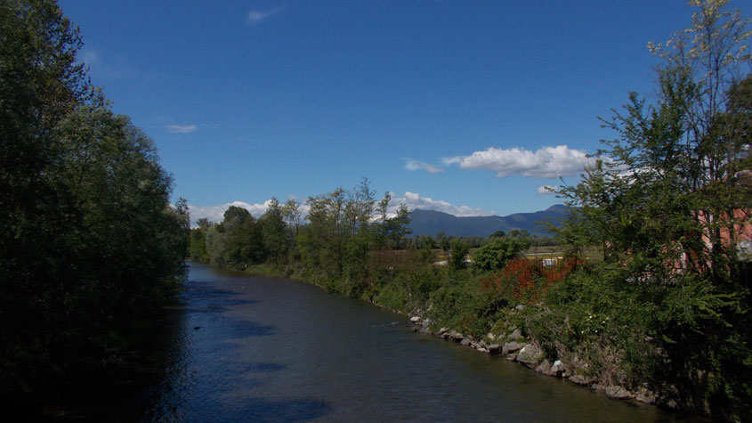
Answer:
[(404, 316), (295, 281), (190, 264), (158, 383), (158, 421), (661, 421)]

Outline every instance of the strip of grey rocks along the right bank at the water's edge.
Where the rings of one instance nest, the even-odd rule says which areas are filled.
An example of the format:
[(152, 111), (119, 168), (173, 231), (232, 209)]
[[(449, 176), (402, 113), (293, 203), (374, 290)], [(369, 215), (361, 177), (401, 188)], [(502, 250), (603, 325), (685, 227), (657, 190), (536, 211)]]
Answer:
[[(522, 305), (518, 307), (522, 307)], [(538, 343), (523, 336), (518, 328), (509, 327), (505, 333), (489, 332), (482, 338), (474, 338), (446, 327), (436, 329), (434, 322), (425, 317), (420, 310), (412, 313), (409, 320), (415, 325), (414, 331), (456, 342), (461, 346), (473, 348), (479, 353), (501, 355), (509, 362), (519, 362), (542, 375), (563, 378), (569, 380), (572, 384), (589, 387), (611, 399), (634, 400), (646, 404), (660, 403), (658, 395), (646, 387), (635, 392), (624, 386), (611, 385), (607, 381), (587, 376), (586, 363), (580, 362), (577, 357), (569, 360), (562, 357), (554, 362), (549, 362)], [(670, 406), (671, 404), (667, 405)]]

